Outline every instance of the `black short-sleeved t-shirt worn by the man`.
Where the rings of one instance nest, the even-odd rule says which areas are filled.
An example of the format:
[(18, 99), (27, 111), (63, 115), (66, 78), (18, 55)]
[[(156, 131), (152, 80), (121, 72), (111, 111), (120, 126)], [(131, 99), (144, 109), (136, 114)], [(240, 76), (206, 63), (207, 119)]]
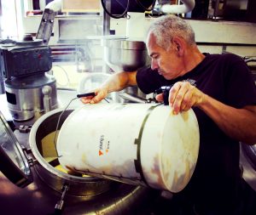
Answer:
[[(236, 108), (256, 105), (252, 73), (239, 56), (205, 55), (206, 58), (192, 71), (174, 80), (166, 80), (150, 68), (140, 69), (137, 71), (138, 88), (143, 93), (153, 93), (161, 86), (186, 81), (225, 105)], [(225, 135), (202, 110), (196, 107), (193, 110), (200, 128), (199, 157), (189, 184), (178, 195), (188, 197), (189, 201), (200, 207), (218, 207), (222, 211), (228, 207), (242, 207), (241, 201), (245, 201), (244, 187), (249, 190), (250, 187), (241, 178), (239, 142)], [(254, 195), (253, 190), (251, 193)]]

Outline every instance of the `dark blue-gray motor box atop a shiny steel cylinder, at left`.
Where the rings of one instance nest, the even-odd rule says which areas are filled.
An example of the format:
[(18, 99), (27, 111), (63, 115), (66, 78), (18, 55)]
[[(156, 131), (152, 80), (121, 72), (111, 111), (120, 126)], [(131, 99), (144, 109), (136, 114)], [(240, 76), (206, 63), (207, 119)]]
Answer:
[(5, 80), (9, 111), (16, 121), (26, 121), (34, 112), (44, 111), (44, 86), (51, 88), (51, 108), (57, 107), (55, 77), (47, 74), (52, 67), (50, 48), (43, 40), (26, 36), (0, 46), (0, 76)]

